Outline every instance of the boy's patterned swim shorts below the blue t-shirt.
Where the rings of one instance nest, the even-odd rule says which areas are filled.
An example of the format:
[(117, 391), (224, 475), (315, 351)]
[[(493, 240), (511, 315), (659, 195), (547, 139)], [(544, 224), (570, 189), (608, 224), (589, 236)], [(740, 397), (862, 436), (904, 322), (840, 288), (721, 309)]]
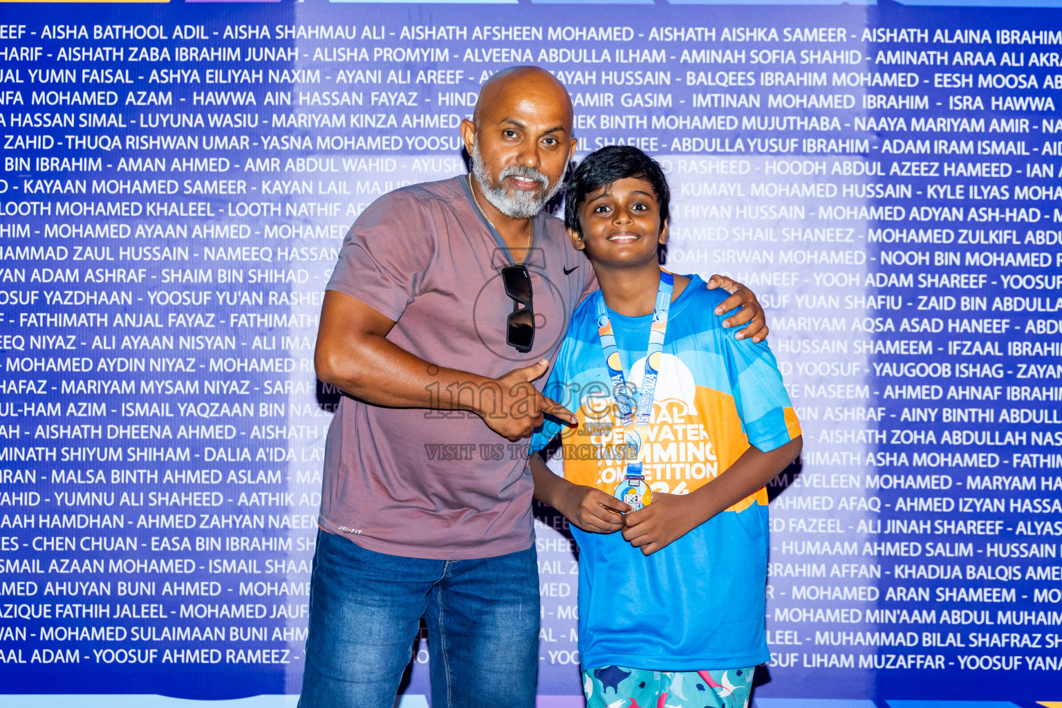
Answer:
[(753, 673), (600, 667), (583, 672), (583, 692), (586, 708), (747, 708)]

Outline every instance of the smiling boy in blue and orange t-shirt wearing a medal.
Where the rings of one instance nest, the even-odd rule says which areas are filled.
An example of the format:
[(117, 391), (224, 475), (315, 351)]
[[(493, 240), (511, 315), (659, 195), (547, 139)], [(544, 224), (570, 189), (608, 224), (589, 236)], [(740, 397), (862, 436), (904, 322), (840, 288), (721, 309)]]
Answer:
[(532, 438), (561, 433), (563, 474), (538, 455), (531, 469), (535, 498), (576, 526), (588, 708), (746, 706), (770, 659), (764, 485), (800, 454), (800, 426), (767, 345), (723, 329), (698, 276), (660, 267), (668, 203), (660, 166), (630, 146), (588, 155), (567, 188), (601, 291), (546, 386), (578, 427), (547, 420)]

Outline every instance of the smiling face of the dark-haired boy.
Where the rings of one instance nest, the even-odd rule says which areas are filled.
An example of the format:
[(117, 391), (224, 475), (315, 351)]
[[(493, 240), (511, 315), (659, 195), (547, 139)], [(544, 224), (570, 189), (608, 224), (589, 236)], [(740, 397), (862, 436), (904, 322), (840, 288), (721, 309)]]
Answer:
[(579, 224), (582, 234), (568, 230), (571, 244), (585, 249), (595, 265), (655, 263), (658, 246), (667, 243), (656, 192), (640, 177), (617, 179), (587, 194), (579, 205)]

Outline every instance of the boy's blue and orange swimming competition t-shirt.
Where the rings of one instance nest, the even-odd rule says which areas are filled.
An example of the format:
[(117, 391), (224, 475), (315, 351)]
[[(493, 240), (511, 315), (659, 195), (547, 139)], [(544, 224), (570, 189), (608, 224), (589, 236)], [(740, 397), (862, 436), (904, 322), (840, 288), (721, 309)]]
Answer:
[[(750, 444), (763, 451), (801, 434), (766, 343), (736, 340), (715, 308), (726, 296), (690, 282), (671, 304), (645, 431), (654, 493), (688, 494)], [(549, 419), (531, 442), (561, 435), (563, 474), (610, 495), (622, 478), (623, 433), (598, 335), (594, 297), (576, 310), (545, 393), (579, 420)], [(639, 387), (652, 315), (609, 311), (628, 385)], [(637, 400), (634, 396), (633, 400)], [(750, 667), (770, 659), (765, 638), (767, 491), (760, 489), (651, 556), (619, 533), (571, 528), (580, 548), (579, 649), (584, 669), (662, 671)]]

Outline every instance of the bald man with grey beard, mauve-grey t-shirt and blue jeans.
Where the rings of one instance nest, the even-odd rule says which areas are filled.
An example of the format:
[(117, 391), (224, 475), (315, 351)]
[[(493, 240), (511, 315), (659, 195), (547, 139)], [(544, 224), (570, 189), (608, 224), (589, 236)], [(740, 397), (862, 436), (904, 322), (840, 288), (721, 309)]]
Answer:
[[(485, 83), (473, 173), (358, 218), (321, 311), (318, 377), (346, 394), (325, 448), (302, 708), (391, 708), (426, 618), (435, 708), (531, 707), (538, 580), (527, 442), (536, 386), (597, 288), (542, 212), (576, 150), (571, 100), (536, 67)], [(763, 312), (732, 320), (757, 341)]]

